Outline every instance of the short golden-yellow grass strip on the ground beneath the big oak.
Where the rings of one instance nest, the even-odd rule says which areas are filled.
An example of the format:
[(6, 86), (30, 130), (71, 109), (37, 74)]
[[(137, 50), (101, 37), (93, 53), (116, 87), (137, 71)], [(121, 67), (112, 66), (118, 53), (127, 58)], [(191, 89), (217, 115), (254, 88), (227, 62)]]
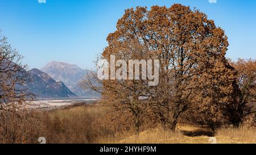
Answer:
[[(226, 128), (218, 130), (215, 135), (218, 144), (236, 143), (256, 143), (256, 129), (254, 128)], [(136, 137), (105, 137), (98, 140), (98, 143), (110, 144), (209, 144), (209, 137), (212, 133), (207, 129), (179, 126), (175, 133), (164, 131), (161, 128), (144, 131), (140, 133), (139, 139)], [(120, 140), (121, 139), (121, 140)]]

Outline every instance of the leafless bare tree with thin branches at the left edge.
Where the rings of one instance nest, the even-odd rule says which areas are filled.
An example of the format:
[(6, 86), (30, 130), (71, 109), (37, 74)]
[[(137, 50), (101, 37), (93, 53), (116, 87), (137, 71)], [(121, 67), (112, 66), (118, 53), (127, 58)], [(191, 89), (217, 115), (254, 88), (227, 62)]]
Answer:
[(0, 143), (25, 143), (28, 128), (29, 101), (34, 95), (27, 91), (30, 76), (22, 65), (22, 56), (11, 48), (0, 34)]

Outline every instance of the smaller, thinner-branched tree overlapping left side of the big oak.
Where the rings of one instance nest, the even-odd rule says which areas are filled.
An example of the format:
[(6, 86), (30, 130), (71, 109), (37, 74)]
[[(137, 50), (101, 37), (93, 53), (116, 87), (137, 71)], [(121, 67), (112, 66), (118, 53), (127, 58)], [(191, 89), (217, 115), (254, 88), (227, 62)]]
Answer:
[[(106, 48), (108, 51), (108, 48)], [(122, 51), (122, 52), (117, 52)], [(116, 52), (116, 53), (115, 53)], [(110, 59), (110, 55), (115, 56), (116, 59), (125, 61), (125, 64), (129, 66), (129, 60), (142, 60), (146, 58), (145, 49), (138, 43), (120, 45), (119, 48), (115, 49), (115, 52), (106, 54), (102, 58)], [(110, 61), (109, 61), (110, 62)], [(110, 67), (110, 66), (109, 66)], [(118, 69), (114, 66), (115, 70)], [(126, 76), (129, 75), (129, 70), (125, 70)], [(135, 68), (133, 68), (135, 72)], [(122, 76), (123, 72), (121, 73)], [(109, 73), (110, 76), (110, 73)], [(112, 125), (119, 127), (118, 123), (120, 120), (131, 121), (124, 125), (126, 128), (134, 128), (137, 137), (139, 136), (139, 127), (142, 123), (142, 115), (148, 109), (148, 103), (140, 98), (148, 97), (148, 80), (142, 80), (142, 73), (139, 74), (139, 79), (105, 79), (100, 80), (97, 77), (97, 73), (90, 72), (86, 74), (84, 80), (81, 82), (81, 86), (85, 89), (91, 89), (101, 93), (102, 103), (108, 110), (108, 115), (113, 116)], [(129, 118), (130, 117), (130, 118)], [(132, 125), (133, 124), (133, 125)]]

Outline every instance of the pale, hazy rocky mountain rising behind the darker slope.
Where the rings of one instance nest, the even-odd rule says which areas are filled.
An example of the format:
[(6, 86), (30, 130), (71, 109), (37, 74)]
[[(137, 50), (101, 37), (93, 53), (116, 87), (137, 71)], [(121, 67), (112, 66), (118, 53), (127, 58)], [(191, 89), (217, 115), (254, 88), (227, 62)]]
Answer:
[(43, 72), (49, 74), (56, 81), (61, 81), (76, 95), (80, 97), (98, 97), (99, 94), (94, 91), (82, 89), (78, 83), (85, 76), (88, 70), (81, 69), (77, 65), (68, 64), (65, 62), (52, 61), (44, 68)]

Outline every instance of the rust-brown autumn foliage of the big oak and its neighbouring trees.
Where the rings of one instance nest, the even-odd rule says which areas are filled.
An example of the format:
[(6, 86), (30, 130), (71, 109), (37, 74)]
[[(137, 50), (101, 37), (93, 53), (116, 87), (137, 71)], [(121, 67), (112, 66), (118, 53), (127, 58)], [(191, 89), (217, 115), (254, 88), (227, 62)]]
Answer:
[(147, 80), (100, 81), (93, 72), (81, 83), (102, 94), (104, 122), (113, 131), (138, 135), (156, 124), (175, 131), (182, 118), (214, 131), (238, 127), (251, 112), (246, 104), (255, 99), (255, 61), (229, 62), (228, 37), (199, 10), (177, 4), (127, 9), (107, 41), (107, 60), (115, 55), (126, 62), (160, 61), (157, 86)]

